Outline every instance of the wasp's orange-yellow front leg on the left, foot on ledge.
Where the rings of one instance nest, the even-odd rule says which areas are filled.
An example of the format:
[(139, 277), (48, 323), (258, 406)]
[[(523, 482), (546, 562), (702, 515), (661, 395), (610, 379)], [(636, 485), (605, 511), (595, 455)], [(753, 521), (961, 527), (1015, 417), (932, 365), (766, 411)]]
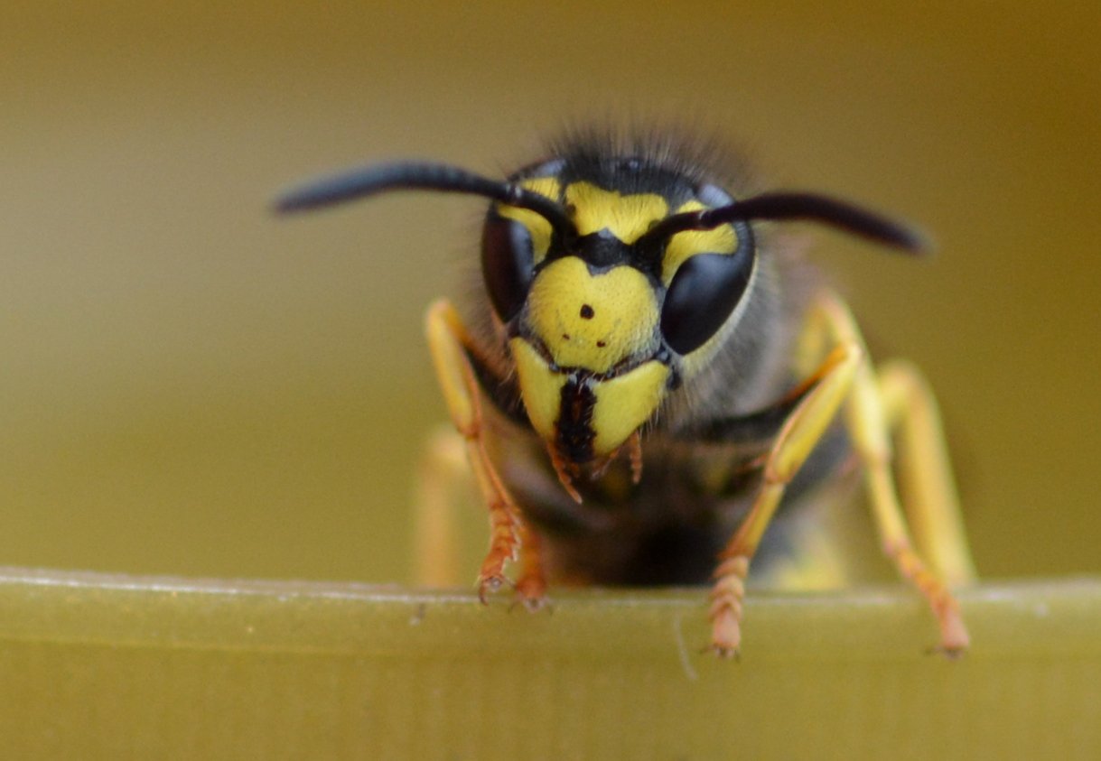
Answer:
[[(425, 332), (451, 422), (465, 441), (478, 490), (489, 508), (490, 545), (478, 573), (478, 596), (484, 603), (487, 595), (508, 583), (504, 566), (520, 558), (525, 527), (486, 449), (488, 429), (481, 410), (481, 388), (471, 364), (479, 361), (479, 355), (470, 335), (458, 312), (446, 300), (436, 301), (428, 308)], [(481, 364), (486, 370), (488, 363)], [(539, 574), (535, 561), (524, 563), (522, 570), (525, 574)], [(545, 585), (528, 582), (520, 592), (525, 594), (542, 586)]]

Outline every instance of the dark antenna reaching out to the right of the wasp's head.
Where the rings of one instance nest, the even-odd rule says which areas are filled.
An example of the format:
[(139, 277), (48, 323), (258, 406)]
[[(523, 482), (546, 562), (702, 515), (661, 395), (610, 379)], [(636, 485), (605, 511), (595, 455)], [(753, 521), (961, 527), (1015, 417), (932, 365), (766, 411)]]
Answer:
[(752, 220), (820, 222), (913, 254), (933, 249), (930, 241), (912, 227), (813, 192), (766, 192), (716, 209), (673, 214), (651, 228), (643, 238), (667, 239), (686, 230), (712, 230), (720, 224)]

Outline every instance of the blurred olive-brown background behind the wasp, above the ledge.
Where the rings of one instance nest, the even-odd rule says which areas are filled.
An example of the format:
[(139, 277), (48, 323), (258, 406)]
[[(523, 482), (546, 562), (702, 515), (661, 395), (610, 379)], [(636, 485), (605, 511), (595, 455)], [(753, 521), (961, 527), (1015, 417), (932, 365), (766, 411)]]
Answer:
[(421, 317), (481, 203), (266, 205), (634, 118), (934, 233), (925, 262), (816, 240), (939, 390), (980, 567), (1098, 571), (1099, 8), (9, 1), (0, 563), (407, 578), (444, 418)]

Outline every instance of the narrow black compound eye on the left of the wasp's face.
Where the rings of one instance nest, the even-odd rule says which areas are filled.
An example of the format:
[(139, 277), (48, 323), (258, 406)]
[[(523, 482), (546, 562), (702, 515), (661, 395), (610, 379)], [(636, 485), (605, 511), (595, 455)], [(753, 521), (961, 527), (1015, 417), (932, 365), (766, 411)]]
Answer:
[(482, 277), (502, 322), (515, 317), (532, 284), (532, 233), (512, 219), (490, 212), (482, 229)]

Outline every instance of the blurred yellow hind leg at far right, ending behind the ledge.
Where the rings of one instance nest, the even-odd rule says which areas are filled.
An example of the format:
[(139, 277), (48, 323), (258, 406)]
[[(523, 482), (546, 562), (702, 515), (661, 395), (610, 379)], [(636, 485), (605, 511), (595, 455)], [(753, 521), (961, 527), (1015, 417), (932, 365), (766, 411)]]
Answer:
[(978, 574), (933, 390), (920, 371), (902, 360), (883, 363), (877, 375), (886, 424), (904, 455), (896, 470), (914, 542), (949, 586), (971, 583)]

